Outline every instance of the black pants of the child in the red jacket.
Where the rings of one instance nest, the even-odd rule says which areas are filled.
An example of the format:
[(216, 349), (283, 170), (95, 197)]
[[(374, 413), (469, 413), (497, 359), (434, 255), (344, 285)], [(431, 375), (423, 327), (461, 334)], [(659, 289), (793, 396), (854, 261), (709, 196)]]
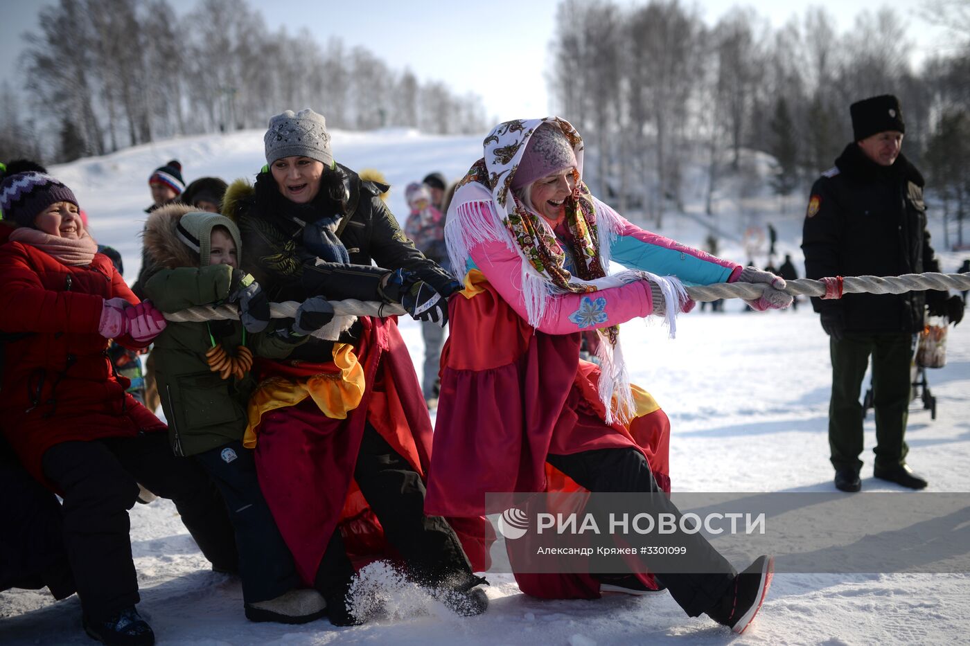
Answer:
[(139, 482), (175, 502), (213, 565), (238, 567), (225, 504), (202, 467), (172, 454), (165, 433), (62, 442), (48, 449), (42, 465), (64, 493), (64, 542), (91, 621), (104, 621), (139, 601), (128, 519)]

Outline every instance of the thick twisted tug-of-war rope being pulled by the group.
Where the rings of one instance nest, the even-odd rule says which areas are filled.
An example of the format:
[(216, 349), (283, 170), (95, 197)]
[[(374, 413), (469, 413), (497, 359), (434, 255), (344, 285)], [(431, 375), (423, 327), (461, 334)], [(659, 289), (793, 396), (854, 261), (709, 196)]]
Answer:
[[(792, 296), (820, 296), (822, 298), (837, 299), (843, 294), (903, 294), (926, 289), (957, 289), (970, 290), (970, 274), (905, 274), (898, 276), (835, 276), (813, 280), (811, 278), (795, 278), (787, 280), (786, 292)], [(720, 282), (713, 285), (687, 286), (687, 295), (699, 303), (710, 303), (719, 299), (744, 299), (753, 301), (760, 298), (766, 283), (752, 282)], [(376, 301), (331, 301), (334, 307), (334, 320), (313, 333), (314, 337), (327, 340), (337, 340), (341, 332), (349, 328), (357, 316), (391, 316), (406, 313), (400, 305), (388, 305)], [(292, 318), (297, 313), (300, 304), (296, 301), (271, 303), (270, 315), (273, 318)], [(178, 323), (201, 323), (213, 319), (239, 319), (236, 306), (201, 306), (189, 307), (176, 312), (168, 312), (165, 318)]]

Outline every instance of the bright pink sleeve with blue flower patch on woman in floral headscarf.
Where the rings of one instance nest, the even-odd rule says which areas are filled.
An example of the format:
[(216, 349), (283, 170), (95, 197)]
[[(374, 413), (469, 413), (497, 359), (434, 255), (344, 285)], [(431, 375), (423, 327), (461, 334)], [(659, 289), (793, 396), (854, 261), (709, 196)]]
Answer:
[[(470, 249), (471, 260), (501, 294), (501, 298), (526, 321), (529, 314), (522, 289), (523, 260), (504, 242), (480, 242)], [(539, 332), (566, 335), (582, 330), (607, 328), (653, 311), (650, 285), (636, 280), (586, 294), (554, 294), (535, 326)]]

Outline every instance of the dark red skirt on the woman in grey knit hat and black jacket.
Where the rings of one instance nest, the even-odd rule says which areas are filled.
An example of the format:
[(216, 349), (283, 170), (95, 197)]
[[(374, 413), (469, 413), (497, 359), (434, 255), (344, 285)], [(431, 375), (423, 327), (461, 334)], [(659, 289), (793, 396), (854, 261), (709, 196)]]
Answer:
[[(339, 530), (348, 556), (360, 567), (393, 559), (376, 516), (353, 479), (365, 422), (425, 477), (431, 461), (431, 418), (404, 339), (394, 319), (362, 318), (354, 353), (364, 368), (366, 389), (346, 419), (327, 417), (311, 398), (263, 415), (257, 429), (256, 468), (276, 525), (293, 553), (297, 570), (311, 585), (330, 537)], [(286, 362), (264, 364), (260, 378), (292, 376)], [(306, 363), (302, 370), (313, 368)], [(323, 372), (333, 366), (318, 367)], [(482, 518), (448, 519), (473, 569), (490, 565), (495, 540)]]

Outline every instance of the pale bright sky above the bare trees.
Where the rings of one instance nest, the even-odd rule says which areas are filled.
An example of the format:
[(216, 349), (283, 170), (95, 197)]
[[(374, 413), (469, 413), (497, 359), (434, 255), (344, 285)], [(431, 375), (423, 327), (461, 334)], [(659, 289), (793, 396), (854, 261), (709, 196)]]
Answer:
[[(0, 80), (22, 82), (16, 76), (16, 59), (23, 47), (19, 36), (36, 30), (40, 8), (54, 2), (0, 0), (0, 16), (4, 16), (0, 60), (5, 63), (0, 67)], [(170, 2), (179, 16), (196, 4), (196, 0)], [(475, 92), (482, 97), (490, 120), (542, 116), (552, 108), (545, 75), (558, 0), (248, 2), (273, 30), (285, 25), (293, 34), (306, 25), (321, 43), (339, 36), (347, 46), (370, 48), (396, 70), (410, 68), (422, 81), (445, 81), (458, 93)], [(852, 28), (859, 12), (889, 6), (909, 22), (915, 62), (945, 47), (946, 42), (942, 29), (931, 27), (919, 16), (922, 3), (913, 0), (703, 0), (684, 4), (696, 6), (709, 24), (735, 5), (750, 6), (774, 27), (792, 16), (802, 16), (810, 5), (823, 6), (835, 17), (840, 32)], [(504, 80), (499, 81), (497, 70), (507, 73)]]

